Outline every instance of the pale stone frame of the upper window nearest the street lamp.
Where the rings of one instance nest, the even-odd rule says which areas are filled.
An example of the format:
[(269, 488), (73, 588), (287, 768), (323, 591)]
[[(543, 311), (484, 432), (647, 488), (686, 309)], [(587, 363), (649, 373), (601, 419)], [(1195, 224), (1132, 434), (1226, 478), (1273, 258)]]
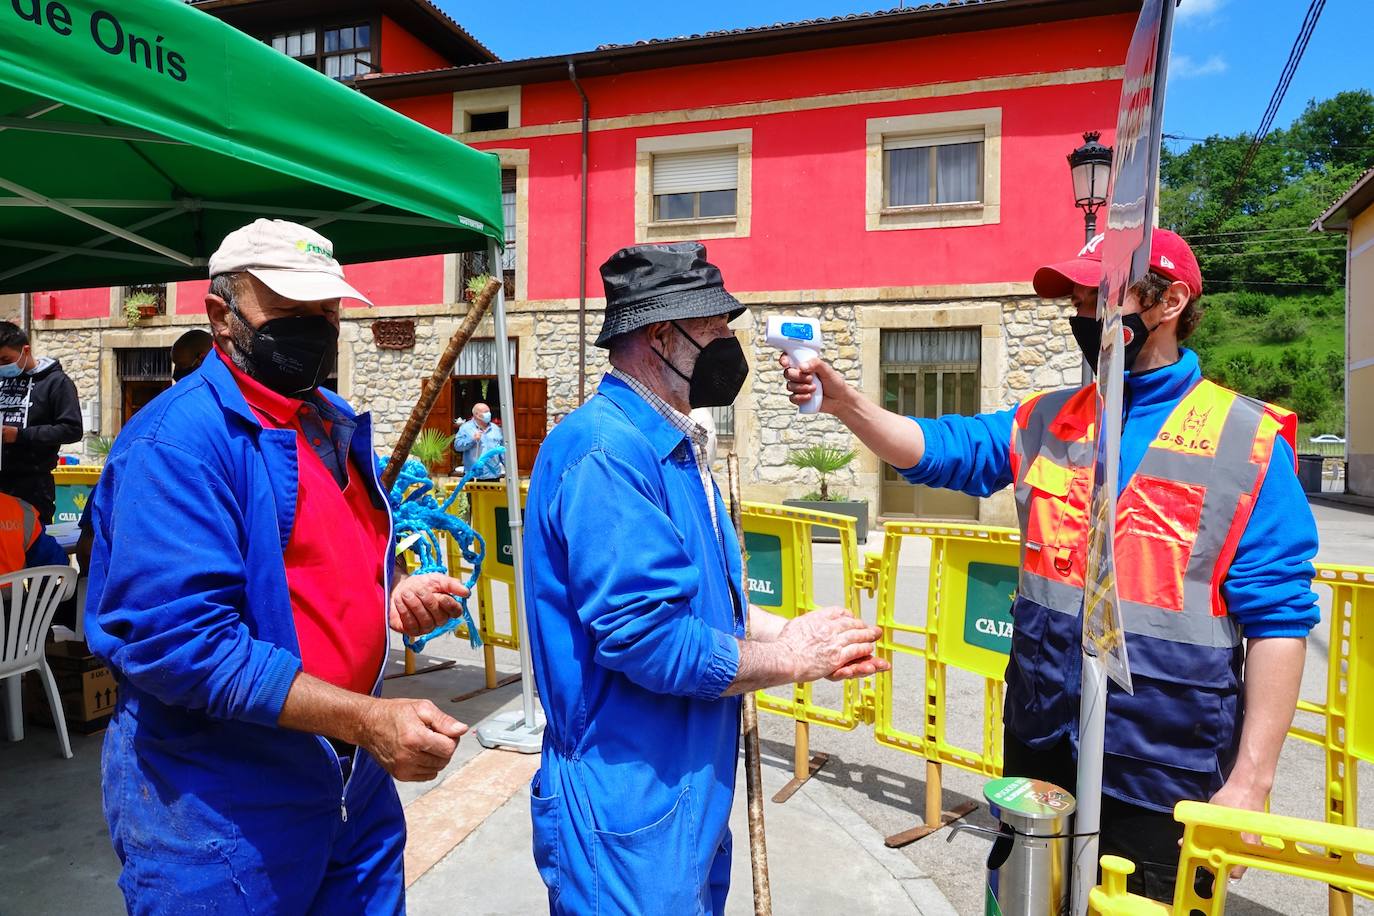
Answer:
[[(885, 141), (893, 139), (932, 143), (982, 137), (982, 201), (886, 206)], [(908, 114), (867, 121), (866, 228), (933, 229), (1002, 222), (1002, 108)]]

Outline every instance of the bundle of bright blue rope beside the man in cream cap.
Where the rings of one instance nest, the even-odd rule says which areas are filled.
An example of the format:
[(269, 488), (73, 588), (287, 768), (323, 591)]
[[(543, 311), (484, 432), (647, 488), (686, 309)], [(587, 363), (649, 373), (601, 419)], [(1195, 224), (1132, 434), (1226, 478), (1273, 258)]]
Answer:
[[(441, 534), (447, 531), (453, 537), (459, 549), (463, 551), (463, 559), (473, 564), (473, 573), (467, 577), (464, 585), (469, 591), (477, 585), (477, 580), (482, 574), (482, 560), (486, 559), (486, 542), (467, 522), (456, 515), (449, 515), (448, 509), (467, 488), (469, 481), (480, 472), (486, 471), (488, 466), (492, 466), (491, 470), (496, 470), (499, 467), (497, 460), (503, 455), (506, 455), (504, 448), (495, 448), (484, 455), (480, 461), (467, 470), (463, 479), (453, 488), (453, 492), (448, 494), (448, 499), (442, 504), (434, 499), (434, 482), (420, 461), (408, 459), (401, 466), (401, 472), (396, 477), (396, 483), (387, 496), (392, 501), (396, 540), (401, 541), (411, 534), (419, 534), (419, 538), (405, 548), (407, 552), (415, 555), (416, 575), (425, 573), (448, 573), (448, 567), (442, 560), (442, 541), (440, 540)], [(386, 460), (378, 459), (379, 475), (385, 466)], [(455, 595), (453, 600), (463, 610), (462, 617), (449, 618), (433, 632), (414, 640), (407, 636), (405, 647), (414, 652), (419, 652), (431, 639), (451, 633), (464, 623), (467, 625), (469, 643), (473, 648), (481, 645), (482, 634), (478, 632), (477, 623), (473, 622), (473, 614), (467, 608), (467, 599)]]

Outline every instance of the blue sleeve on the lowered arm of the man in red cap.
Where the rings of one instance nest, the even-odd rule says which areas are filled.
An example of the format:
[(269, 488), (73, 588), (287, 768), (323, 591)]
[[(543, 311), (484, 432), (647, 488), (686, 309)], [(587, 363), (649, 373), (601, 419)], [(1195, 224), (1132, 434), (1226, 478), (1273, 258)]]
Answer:
[(1312, 592), (1316, 548), (1316, 520), (1293, 470), (1293, 449), (1279, 439), (1221, 584), (1246, 639), (1301, 639), (1316, 626), (1322, 617)]

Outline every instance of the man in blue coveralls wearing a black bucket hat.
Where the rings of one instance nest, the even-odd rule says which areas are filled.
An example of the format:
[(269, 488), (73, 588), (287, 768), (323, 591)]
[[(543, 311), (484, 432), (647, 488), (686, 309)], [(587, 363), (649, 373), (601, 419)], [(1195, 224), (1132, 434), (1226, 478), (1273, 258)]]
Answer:
[[(749, 607), (739, 548), (687, 413), (749, 375), (745, 309), (699, 243), (602, 265), (611, 371), (544, 445), (525, 534), (530, 650), (548, 720), (530, 784), (555, 913), (721, 913), (739, 699), (871, 674), (881, 630), (842, 608)], [(750, 637), (745, 639), (743, 614)]]

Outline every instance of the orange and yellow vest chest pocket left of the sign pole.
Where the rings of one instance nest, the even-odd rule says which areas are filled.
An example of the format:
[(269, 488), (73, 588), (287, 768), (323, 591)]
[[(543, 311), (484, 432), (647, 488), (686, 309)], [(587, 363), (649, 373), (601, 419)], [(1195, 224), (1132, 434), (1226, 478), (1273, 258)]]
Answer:
[(1046, 578), (1083, 585), (1091, 468), (1057, 464), (1037, 455), (1026, 468), (1026, 566)]

